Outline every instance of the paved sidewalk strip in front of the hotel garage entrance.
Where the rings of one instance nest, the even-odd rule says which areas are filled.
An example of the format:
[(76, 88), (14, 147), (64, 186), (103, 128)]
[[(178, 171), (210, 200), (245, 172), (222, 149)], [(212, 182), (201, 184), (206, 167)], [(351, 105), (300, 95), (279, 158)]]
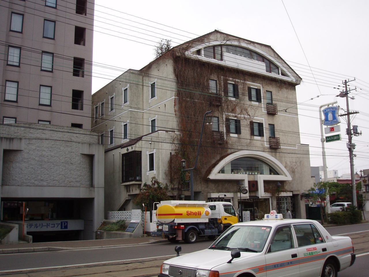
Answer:
[(132, 244), (168, 242), (161, 237), (132, 237), (125, 239), (76, 240), (69, 242), (38, 242), (0, 244), (0, 254), (58, 251), (83, 248), (102, 248)]

